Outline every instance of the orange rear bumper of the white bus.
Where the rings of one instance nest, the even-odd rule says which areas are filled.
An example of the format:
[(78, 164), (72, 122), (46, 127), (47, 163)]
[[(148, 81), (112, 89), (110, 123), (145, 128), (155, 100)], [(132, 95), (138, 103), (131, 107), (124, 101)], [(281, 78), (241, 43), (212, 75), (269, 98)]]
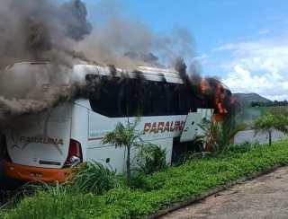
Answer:
[(14, 180), (64, 182), (71, 170), (31, 167), (4, 161), (4, 173), (6, 177)]

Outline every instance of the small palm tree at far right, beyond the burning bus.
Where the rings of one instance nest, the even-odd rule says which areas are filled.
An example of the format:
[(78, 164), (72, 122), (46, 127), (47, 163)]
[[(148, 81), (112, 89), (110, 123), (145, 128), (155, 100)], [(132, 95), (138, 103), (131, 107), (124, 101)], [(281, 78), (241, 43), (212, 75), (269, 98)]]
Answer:
[(288, 117), (284, 115), (265, 114), (255, 119), (253, 129), (257, 133), (265, 133), (269, 138), (269, 145), (272, 145), (272, 132), (274, 130), (288, 134)]

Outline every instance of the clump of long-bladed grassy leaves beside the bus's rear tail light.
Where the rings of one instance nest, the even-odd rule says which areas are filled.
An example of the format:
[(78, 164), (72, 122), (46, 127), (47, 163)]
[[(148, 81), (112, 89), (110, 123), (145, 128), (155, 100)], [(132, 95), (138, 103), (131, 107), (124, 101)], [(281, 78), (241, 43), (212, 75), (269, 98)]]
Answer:
[(85, 162), (77, 167), (69, 180), (71, 186), (96, 195), (117, 187), (116, 171), (111, 171), (99, 162)]

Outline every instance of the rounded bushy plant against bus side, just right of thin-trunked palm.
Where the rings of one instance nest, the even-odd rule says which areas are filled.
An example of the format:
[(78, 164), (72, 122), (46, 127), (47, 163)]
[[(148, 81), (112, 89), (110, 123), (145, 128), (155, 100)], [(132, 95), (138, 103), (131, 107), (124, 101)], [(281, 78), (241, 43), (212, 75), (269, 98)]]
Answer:
[(167, 167), (166, 150), (158, 145), (143, 145), (139, 151), (138, 165), (145, 174), (163, 171)]

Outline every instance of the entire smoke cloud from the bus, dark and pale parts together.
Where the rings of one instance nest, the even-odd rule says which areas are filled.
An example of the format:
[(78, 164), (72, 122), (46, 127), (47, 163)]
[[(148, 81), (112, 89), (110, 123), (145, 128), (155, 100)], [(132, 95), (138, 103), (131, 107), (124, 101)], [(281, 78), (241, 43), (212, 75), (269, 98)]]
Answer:
[[(89, 90), (91, 84), (73, 75), (72, 66), (77, 63), (110, 66), (111, 73), (115, 73), (114, 66), (128, 70), (174, 67), (188, 88), (201, 90), (199, 65), (193, 61), (187, 72), (184, 62), (184, 57), (194, 57), (189, 31), (152, 31), (110, 0), (95, 4), (94, 14), (93, 23), (87, 21), (81, 0), (0, 2), (0, 121), (49, 109)], [(24, 61), (49, 64), (5, 69)], [(93, 89), (101, 89), (101, 83), (96, 84), (99, 87)], [(206, 93), (217, 88), (209, 80), (207, 84)]]

